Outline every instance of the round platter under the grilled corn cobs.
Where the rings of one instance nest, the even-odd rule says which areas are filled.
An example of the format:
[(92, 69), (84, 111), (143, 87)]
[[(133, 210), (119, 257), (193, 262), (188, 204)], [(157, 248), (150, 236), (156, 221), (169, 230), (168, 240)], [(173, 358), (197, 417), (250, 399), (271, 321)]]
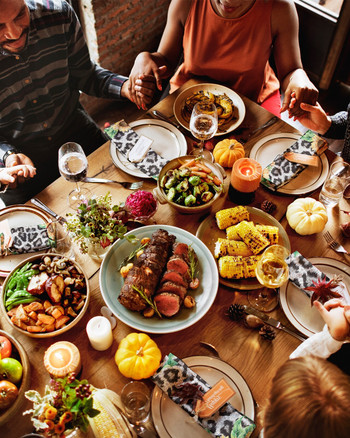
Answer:
[[(282, 225), (276, 220), (273, 216), (268, 213), (265, 213), (262, 210), (259, 210), (255, 207), (246, 207), (249, 212), (249, 217), (251, 221), (255, 224), (262, 225), (273, 225), (278, 227), (279, 229), (279, 241), (280, 245), (283, 245), (290, 251), (290, 242), (288, 235)], [(196, 236), (200, 239), (210, 250), (211, 254), (214, 255), (215, 242), (219, 237), (225, 238), (226, 233), (225, 230), (219, 230), (216, 220), (215, 214), (208, 216), (198, 227)], [(227, 278), (222, 278), (219, 276), (219, 281), (224, 286), (231, 287), (233, 289), (240, 290), (251, 290), (251, 289), (259, 289), (261, 288), (261, 284), (258, 282), (256, 278), (247, 278), (241, 280), (230, 280)]]

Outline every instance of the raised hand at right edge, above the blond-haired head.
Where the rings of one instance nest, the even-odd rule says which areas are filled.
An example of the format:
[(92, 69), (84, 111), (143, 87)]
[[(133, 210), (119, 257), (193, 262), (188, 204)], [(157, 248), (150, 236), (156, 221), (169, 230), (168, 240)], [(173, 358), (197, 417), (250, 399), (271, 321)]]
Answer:
[(333, 298), (324, 305), (314, 301), (314, 306), (327, 324), (333, 339), (344, 341), (350, 335), (350, 306), (344, 306), (338, 298)]

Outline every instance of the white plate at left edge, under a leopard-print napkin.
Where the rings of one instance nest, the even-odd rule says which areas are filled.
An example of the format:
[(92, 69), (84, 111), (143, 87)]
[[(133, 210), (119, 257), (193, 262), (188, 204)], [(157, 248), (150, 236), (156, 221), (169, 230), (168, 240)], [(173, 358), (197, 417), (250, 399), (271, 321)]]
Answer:
[[(47, 224), (52, 219), (44, 211), (29, 205), (10, 205), (0, 210), (0, 222), (8, 220), (10, 228), (30, 225)], [(41, 251), (41, 253), (47, 252)], [(38, 252), (40, 254), (40, 252)], [(6, 277), (12, 269), (31, 254), (18, 254), (6, 257), (0, 256), (0, 277)]]

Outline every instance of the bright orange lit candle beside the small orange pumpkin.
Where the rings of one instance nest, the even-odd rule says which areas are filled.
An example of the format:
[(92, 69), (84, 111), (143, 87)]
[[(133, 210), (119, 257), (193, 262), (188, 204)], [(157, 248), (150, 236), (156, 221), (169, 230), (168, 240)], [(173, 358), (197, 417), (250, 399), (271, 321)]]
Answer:
[(232, 187), (242, 193), (252, 193), (259, 187), (262, 175), (261, 165), (252, 158), (240, 158), (232, 168)]

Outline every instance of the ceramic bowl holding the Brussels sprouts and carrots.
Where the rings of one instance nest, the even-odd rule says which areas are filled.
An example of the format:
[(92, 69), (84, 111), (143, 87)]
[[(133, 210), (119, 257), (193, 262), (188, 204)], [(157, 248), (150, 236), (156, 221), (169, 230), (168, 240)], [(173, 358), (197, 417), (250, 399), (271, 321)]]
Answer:
[(182, 157), (174, 158), (173, 160), (169, 161), (160, 171), (157, 187), (154, 189), (153, 194), (157, 198), (160, 204), (166, 204), (168, 203), (171, 207), (173, 207), (175, 210), (177, 210), (179, 213), (183, 214), (196, 214), (196, 213), (204, 213), (209, 211), (213, 205), (224, 195), (224, 189), (223, 189), (223, 183), (224, 179), (226, 178), (226, 172), (225, 170), (217, 163), (212, 163), (211, 161), (201, 158), (201, 162), (205, 164), (213, 174), (218, 177), (222, 183), (222, 190), (220, 192), (217, 192), (214, 197), (207, 203), (201, 204), (201, 205), (194, 205), (194, 206), (185, 206), (177, 204), (176, 202), (170, 201), (167, 198), (166, 192), (164, 188), (162, 187), (162, 179), (164, 175), (169, 171), (173, 169), (178, 169), (182, 164), (184, 164), (186, 161), (193, 160), (193, 155), (185, 155)]

